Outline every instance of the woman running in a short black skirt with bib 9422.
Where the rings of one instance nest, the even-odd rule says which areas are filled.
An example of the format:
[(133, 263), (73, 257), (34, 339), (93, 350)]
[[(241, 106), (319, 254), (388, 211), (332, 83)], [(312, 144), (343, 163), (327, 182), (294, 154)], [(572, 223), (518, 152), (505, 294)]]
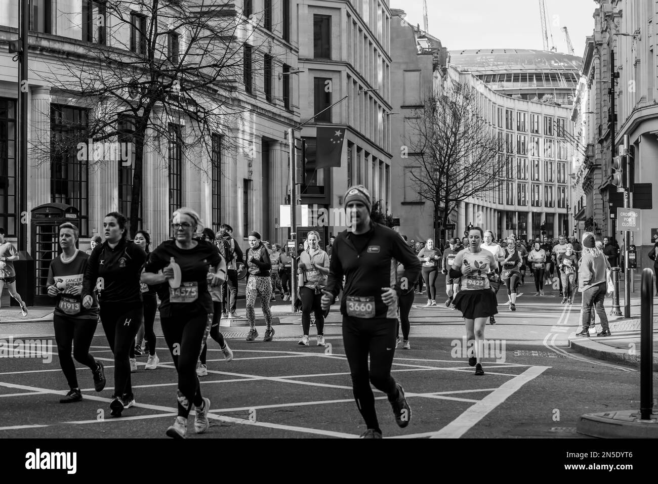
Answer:
[(461, 311), (466, 322), (468, 345), (475, 342), (475, 356), (468, 358), (468, 364), (475, 366), (476, 375), (484, 375), (484, 326), (489, 317), (498, 312), (495, 294), (489, 285), (490, 279), (495, 281), (498, 278), (495, 272), (498, 262), (492, 253), (482, 249), (483, 236), (479, 227), (469, 230), (468, 248), (457, 254), (450, 268), (450, 276), (458, 279), (461, 285), (461, 291), (455, 297), (455, 308)]

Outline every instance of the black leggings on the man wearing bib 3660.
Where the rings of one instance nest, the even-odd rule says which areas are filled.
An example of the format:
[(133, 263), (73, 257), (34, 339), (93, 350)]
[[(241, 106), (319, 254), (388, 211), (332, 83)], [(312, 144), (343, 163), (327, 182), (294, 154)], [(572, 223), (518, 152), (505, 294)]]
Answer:
[(396, 319), (343, 316), (343, 343), (352, 376), (354, 399), (368, 429), (378, 432), (381, 432), (381, 429), (374, 410), (374, 395), (370, 383), (386, 393), (389, 400), (397, 399), (395, 380), (391, 376), (396, 328)]

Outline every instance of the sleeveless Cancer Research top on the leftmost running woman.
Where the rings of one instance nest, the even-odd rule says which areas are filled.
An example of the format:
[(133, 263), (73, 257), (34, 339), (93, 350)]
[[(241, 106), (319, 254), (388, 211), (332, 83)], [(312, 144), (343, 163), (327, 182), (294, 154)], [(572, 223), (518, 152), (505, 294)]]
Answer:
[(78, 320), (96, 320), (98, 318), (98, 304), (92, 294), (93, 304), (89, 309), (82, 306), (82, 297), (80, 295), (67, 294), (72, 287), (82, 288), (82, 279), (87, 269), (89, 256), (78, 251), (74, 258), (68, 262), (62, 260), (60, 254), (51, 261), (48, 268), (48, 285), (55, 285), (61, 292), (55, 299), (55, 314), (65, 318)]

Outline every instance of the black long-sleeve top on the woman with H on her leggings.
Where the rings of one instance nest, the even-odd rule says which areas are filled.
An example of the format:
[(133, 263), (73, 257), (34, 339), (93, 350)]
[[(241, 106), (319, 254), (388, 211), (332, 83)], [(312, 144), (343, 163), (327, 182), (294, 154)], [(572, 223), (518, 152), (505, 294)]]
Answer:
[(146, 253), (133, 241), (121, 239), (111, 248), (107, 241), (93, 249), (82, 283), (82, 298), (91, 295), (98, 284), (103, 304), (141, 303), (139, 273)]

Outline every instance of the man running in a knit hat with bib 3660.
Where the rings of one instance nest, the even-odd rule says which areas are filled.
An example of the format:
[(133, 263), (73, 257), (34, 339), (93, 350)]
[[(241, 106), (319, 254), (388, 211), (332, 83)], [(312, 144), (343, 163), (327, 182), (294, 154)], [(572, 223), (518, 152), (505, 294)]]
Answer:
[(345, 210), (352, 214), (352, 228), (341, 232), (334, 242), (322, 309), (327, 310), (334, 302), (344, 275), (340, 305), (343, 343), (354, 399), (367, 425), (361, 437), (381, 439), (371, 382), (388, 396), (399, 427), (406, 427), (411, 420), (411, 408), (403, 388), (391, 375), (401, 295), (395, 261), (404, 264), (401, 281), (409, 287), (420, 275), (420, 262), (395, 231), (370, 220), (372, 199), (363, 185), (349, 187), (343, 200)]

